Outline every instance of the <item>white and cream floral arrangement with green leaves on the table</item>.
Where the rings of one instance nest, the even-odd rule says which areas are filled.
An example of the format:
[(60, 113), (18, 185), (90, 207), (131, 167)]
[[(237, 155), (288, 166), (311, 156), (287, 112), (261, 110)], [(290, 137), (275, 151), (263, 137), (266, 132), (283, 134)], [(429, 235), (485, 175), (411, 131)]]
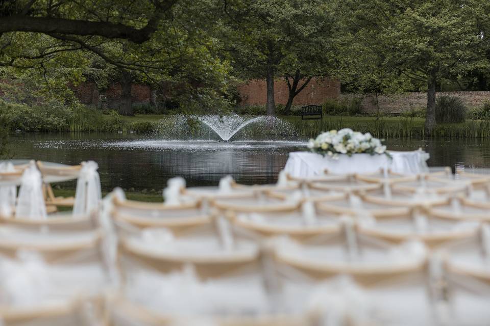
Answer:
[(310, 139), (307, 147), (313, 153), (328, 155), (332, 158), (338, 158), (338, 154), (351, 156), (356, 153), (389, 156), (381, 140), (374, 138), (369, 132), (362, 133), (349, 128), (322, 132), (316, 139)]

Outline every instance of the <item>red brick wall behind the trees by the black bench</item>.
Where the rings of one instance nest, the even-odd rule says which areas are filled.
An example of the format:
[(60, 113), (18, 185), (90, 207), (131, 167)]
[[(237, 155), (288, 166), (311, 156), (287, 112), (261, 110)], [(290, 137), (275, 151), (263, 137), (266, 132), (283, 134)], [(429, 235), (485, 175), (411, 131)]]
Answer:
[[(302, 85), (302, 82), (299, 84)], [(274, 82), (274, 100), (276, 104), (286, 104), (289, 90), (287, 83), (282, 79)], [(238, 86), (242, 105), (265, 104), (267, 89), (265, 80), (252, 79), (248, 83)], [(332, 79), (313, 78), (300, 94), (293, 105), (322, 104), (326, 98), (337, 98), (340, 94), (340, 82)]]

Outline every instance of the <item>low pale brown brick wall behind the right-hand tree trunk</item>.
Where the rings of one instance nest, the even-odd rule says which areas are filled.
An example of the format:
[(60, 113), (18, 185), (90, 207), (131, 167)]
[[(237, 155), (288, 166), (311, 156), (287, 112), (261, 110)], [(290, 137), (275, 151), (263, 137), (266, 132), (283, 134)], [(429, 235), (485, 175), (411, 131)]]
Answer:
[[(481, 106), (490, 102), (490, 92), (437, 92), (436, 96), (451, 95), (459, 97), (469, 108)], [(361, 105), (365, 112), (376, 112), (376, 94), (340, 94), (339, 102), (350, 103), (353, 98), (361, 98)], [(379, 108), (381, 112), (408, 111), (427, 106), (427, 93), (405, 94), (378, 94)]]

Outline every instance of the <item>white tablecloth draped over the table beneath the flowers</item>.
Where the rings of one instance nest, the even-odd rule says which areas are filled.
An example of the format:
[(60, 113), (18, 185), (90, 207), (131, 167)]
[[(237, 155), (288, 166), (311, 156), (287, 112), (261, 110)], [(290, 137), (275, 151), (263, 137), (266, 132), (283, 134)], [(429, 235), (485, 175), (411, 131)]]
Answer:
[(310, 152), (291, 152), (284, 171), (295, 177), (313, 177), (323, 174), (325, 170), (331, 174), (368, 174), (379, 172), (380, 169), (403, 174), (428, 171), (426, 160), (429, 154), (422, 150), (388, 152), (391, 158), (383, 154), (354, 154), (351, 157), (339, 155), (338, 159)]

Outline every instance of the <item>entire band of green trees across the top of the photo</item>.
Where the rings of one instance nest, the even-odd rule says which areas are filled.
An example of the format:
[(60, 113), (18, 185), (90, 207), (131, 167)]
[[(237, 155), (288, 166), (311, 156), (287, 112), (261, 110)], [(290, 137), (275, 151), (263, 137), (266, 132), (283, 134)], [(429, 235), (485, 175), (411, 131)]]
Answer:
[(0, 2), (0, 78), (67, 100), (67, 85), (131, 84), (171, 94), (181, 110), (232, 105), (233, 85), (263, 78), (267, 114), (284, 78), (285, 111), (312, 77), (359, 92), (435, 95), (489, 88), (490, 3), (477, 0), (17, 0)]

